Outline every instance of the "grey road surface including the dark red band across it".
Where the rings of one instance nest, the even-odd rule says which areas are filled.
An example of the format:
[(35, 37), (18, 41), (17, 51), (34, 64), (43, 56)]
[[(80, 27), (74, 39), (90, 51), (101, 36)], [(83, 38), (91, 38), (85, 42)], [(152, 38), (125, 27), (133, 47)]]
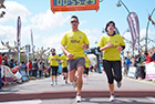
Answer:
[[(155, 83), (153, 82), (148, 82), (144, 80), (138, 81), (130, 77), (123, 77), (122, 82), (123, 85), (121, 89), (118, 89), (115, 84), (116, 97), (120, 98), (121, 97), (155, 97)], [(100, 74), (100, 73), (91, 72), (89, 81), (85, 81), (84, 79), (83, 83), (84, 84), (83, 84), (82, 96), (85, 97), (84, 101), (91, 98), (92, 102), (94, 102), (91, 104), (102, 104), (100, 102), (95, 103), (94, 100), (95, 98), (100, 100), (100, 97), (110, 96), (107, 81), (104, 73)], [(7, 85), (6, 87), (3, 87), (3, 92), (0, 92), (0, 102), (22, 101), (22, 100), (43, 100), (43, 102), (46, 102), (48, 100), (51, 98), (54, 102), (55, 98), (59, 98), (59, 101), (61, 98), (63, 98), (64, 101), (65, 98), (68, 101), (72, 101), (74, 100), (74, 97), (75, 97), (75, 90), (73, 89), (71, 83), (69, 84), (64, 83), (64, 80), (62, 80), (62, 75), (59, 75), (58, 85), (54, 86), (51, 86), (51, 77), (45, 77), (45, 79), (31, 80), (22, 84)], [(101, 102), (106, 103), (106, 101), (108, 102), (108, 100), (106, 98), (105, 102), (103, 98), (101, 98)], [(71, 104), (71, 103), (66, 103), (66, 104)], [(83, 104), (87, 104), (87, 103), (83, 102)]]

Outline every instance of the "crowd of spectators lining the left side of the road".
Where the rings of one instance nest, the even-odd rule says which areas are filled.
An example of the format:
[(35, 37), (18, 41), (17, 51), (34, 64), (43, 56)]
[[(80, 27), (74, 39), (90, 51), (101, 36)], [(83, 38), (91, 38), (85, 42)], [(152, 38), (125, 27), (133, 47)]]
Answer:
[(13, 74), (16, 74), (17, 71), (14, 72), (12, 69), (18, 66), (18, 71), (21, 74), (25, 74), (29, 79), (38, 79), (42, 77), (43, 72), (49, 70), (46, 69), (44, 62), (38, 59), (34, 59), (33, 61), (29, 60), (29, 62), (22, 61), (20, 64), (18, 64), (18, 61), (16, 61), (13, 58), (8, 58), (6, 53), (0, 53), (0, 55), (2, 58), (1, 64), (9, 66)]

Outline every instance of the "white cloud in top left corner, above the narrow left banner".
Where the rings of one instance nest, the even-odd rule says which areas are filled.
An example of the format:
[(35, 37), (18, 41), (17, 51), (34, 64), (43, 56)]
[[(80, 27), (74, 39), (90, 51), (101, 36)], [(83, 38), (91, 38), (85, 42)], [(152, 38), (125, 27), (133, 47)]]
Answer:
[(10, 20), (17, 21), (18, 17), (20, 15), (22, 22), (27, 22), (27, 17), (31, 14), (31, 12), (23, 7), (22, 4), (14, 2), (14, 1), (6, 1), (6, 14), (4, 18), (0, 19), (0, 22), (6, 22)]

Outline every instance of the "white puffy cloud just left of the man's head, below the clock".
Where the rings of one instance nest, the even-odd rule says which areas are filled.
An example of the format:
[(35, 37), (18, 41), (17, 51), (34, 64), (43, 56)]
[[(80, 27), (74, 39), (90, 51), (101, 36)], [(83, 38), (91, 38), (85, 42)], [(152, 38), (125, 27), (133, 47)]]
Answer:
[(48, 10), (45, 13), (35, 14), (31, 19), (31, 22), (33, 24), (33, 28), (40, 30), (49, 30), (64, 25), (64, 23), (68, 22), (69, 19), (70, 15), (64, 17), (62, 15), (62, 12), (52, 13), (51, 10)]

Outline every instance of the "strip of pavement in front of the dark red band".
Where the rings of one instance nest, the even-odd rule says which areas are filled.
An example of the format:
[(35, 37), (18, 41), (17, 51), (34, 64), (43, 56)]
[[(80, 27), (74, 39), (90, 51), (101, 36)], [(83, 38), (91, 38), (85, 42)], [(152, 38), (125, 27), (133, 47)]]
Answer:
[[(0, 104), (78, 104), (75, 98), (27, 100), (0, 102)], [(83, 97), (80, 104), (155, 104), (155, 97), (117, 97), (110, 102), (108, 97)]]

